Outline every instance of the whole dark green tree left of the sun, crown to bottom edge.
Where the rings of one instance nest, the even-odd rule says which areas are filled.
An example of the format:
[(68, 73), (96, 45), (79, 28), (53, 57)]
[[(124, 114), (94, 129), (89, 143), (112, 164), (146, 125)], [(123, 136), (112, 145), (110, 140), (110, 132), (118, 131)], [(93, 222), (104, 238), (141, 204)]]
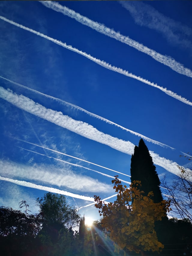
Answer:
[(46, 193), (37, 198), (37, 205), (42, 215), (42, 229), (38, 233), (39, 250), (36, 255), (67, 256), (76, 255), (76, 232), (80, 215), (69, 206), (64, 195)]

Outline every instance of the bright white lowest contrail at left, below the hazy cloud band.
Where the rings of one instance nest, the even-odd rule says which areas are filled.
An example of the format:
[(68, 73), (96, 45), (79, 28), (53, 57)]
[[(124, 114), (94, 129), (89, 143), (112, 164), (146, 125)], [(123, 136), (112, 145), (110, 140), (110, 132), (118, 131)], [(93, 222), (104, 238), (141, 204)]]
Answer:
[(88, 200), (88, 201), (93, 201), (94, 202), (93, 197), (81, 196), (81, 195), (73, 194), (73, 193), (70, 193), (70, 192), (67, 192), (67, 191), (64, 191), (64, 190), (60, 190), (60, 189), (57, 189), (57, 188), (50, 188), (50, 187), (46, 187), (46, 186), (41, 186), (41, 185), (37, 185), (35, 183), (23, 181), (23, 180), (10, 179), (10, 178), (3, 177), (1, 175), (0, 175), (0, 180), (12, 182), (14, 184), (24, 186), (24, 187), (28, 187), (28, 188), (36, 188), (36, 189), (48, 191), (48, 192), (51, 192), (51, 193), (62, 194), (62, 195), (66, 195), (66, 196), (69, 196), (69, 197), (75, 197), (75, 198), (78, 198), (78, 199)]

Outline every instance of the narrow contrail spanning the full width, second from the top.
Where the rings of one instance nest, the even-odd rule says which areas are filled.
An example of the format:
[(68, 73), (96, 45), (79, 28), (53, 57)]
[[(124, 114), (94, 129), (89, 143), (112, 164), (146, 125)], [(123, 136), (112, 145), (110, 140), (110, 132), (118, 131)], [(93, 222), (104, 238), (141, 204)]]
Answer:
[(185, 104), (188, 104), (188, 105), (192, 106), (192, 102), (191, 101), (187, 100), (186, 98), (182, 97), (181, 95), (176, 94), (175, 92), (172, 92), (171, 90), (167, 90), (167, 88), (164, 88), (164, 87), (161, 87), (161, 86), (159, 86), (157, 84), (154, 84), (153, 82), (150, 82), (150, 81), (148, 81), (148, 80), (146, 80), (146, 79), (144, 79), (142, 77), (138, 77), (138, 76), (136, 76), (136, 75), (134, 75), (132, 73), (129, 73), (126, 70), (123, 70), (122, 68), (117, 68), (115, 66), (112, 66), (111, 64), (109, 64), (109, 63), (107, 63), (107, 62), (105, 62), (103, 60), (96, 59), (95, 57), (91, 56), (90, 54), (82, 52), (82, 51), (72, 47), (71, 45), (67, 45), (66, 43), (63, 43), (63, 42), (58, 41), (56, 39), (53, 39), (53, 38), (51, 38), (51, 37), (49, 37), (47, 35), (44, 35), (44, 34), (42, 34), (40, 32), (37, 32), (37, 31), (35, 31), (33, 29), (29, 29), (29, 28), (27, 28), (27, 27), (25, 27), (23, 25), (20, 25), (19, 23), (16, 23), (16, 22), (12, 21), (12, 20), (8, 20), (7, 18), (5, 18), (3, 16), (0, 16), (0, 19), (4, 20), (4, 21), (6, 21), (6, 22), (8, 22), (8, 23), (10, 23), (10, 24), (12, 24), (14, 26), (17, 26), (17, 27), (19, 27), (21, 29), (25, 29), (25, 30), (27, 30), (27, 31), (29, 31), (31, 33), (34, 33), (35, 35), (41, 36), (43, 38), (46, 38), (47, 40), (52, 41), (53, 43), (58, 44), (58, 45), (66, 48), (68, 50), (76, 52), (76, 53), (86, 57), (87, 59), (90, 59), (91, 61), (97, 63), (98, 65), (100, 65), (100, 66), (102, 66), (104, 68), (107, 68), (107, 69), (109, 69), (111, 71), (117, 72), (117, 73), (122, 74), (122, 75), (127, 76), (127, 77), (134, 78), (136, 80), (139, 80), (142, 83), (146, 83), (146, 84), (148, 84), (150, 86), (153, 86), (153, 87), (161, 90), (162, 92), (166, 93), (167, 95), (169, 95), (169, 96), (171, 96), (171, 97), (173, 97), (173, 98), (175, 98), (175, 99), (177, 99), (179, 101), (182, 101)]

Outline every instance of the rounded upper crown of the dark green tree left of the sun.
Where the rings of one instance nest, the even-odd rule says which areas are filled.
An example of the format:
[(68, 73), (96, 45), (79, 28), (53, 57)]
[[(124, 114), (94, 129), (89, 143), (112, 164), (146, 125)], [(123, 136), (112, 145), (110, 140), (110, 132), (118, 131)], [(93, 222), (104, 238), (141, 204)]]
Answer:
[(43, 225), (56, 225), (73, 229), (78, 226), (80, 216), (75, 207), (69, 206), (64, 195), (46, 193), (37, 198)]

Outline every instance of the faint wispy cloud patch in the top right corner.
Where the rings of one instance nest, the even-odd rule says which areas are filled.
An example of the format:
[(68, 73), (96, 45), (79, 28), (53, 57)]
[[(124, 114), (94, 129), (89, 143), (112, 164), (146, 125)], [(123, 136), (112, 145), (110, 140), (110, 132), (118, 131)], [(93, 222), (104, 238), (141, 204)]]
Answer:
[[(182, 48), (187, 48), (191, 51), (192, 43), (189, 39), (189, 36), (192, 35), (191, 28), (165, 16), (151, 5), (141, 1), (119, 1), (119, 3), (130, 12), (138, 25), (154, 29), (160, 32), (169, 43), (182, 46)], [(45, 3), (43, 4), (46, 5)], [(172, 59), (172, 61), (174, 60)]]

